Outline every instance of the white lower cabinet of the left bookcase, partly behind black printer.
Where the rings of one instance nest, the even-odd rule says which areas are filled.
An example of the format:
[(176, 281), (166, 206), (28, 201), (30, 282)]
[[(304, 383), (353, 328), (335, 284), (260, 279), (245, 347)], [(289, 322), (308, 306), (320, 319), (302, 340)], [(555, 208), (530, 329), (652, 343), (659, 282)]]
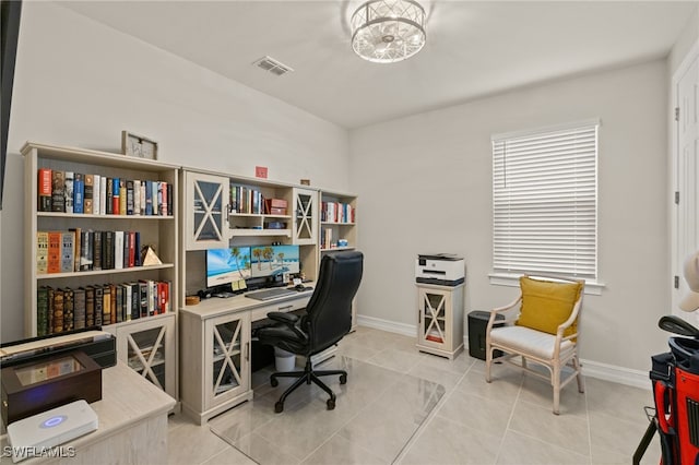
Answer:
[(175, 314), (118, 325), (116, 336), (117, 358), (177, 398)]

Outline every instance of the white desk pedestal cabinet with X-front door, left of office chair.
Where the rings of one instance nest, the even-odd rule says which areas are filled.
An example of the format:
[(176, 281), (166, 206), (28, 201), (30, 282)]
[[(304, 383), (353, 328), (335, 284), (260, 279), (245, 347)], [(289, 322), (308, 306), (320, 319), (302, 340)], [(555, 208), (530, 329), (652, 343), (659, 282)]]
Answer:
[(250, 312), (180, 313), (182, 409), (199, 425), (252, 398)]

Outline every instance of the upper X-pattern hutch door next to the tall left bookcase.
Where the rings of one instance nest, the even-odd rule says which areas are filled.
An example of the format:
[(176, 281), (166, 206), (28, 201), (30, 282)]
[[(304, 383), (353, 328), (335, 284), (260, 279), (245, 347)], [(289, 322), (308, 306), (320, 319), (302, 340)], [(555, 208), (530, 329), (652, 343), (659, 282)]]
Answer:
[(185, 171), (187, 250), (228, 247), (228, 178)]

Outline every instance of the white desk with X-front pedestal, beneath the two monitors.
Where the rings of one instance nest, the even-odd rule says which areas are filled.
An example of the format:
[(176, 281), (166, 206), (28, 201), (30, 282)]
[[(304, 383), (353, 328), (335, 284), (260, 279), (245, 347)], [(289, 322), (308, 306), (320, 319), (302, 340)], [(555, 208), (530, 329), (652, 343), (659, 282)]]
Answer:
[[(309, 283), (315, 286), (315, 283)], [(270, 300), (212, 297), (179, 311), (182, 412), (199, 425), (252, 398), (250, 325), (306, 308), (312, 290)]]

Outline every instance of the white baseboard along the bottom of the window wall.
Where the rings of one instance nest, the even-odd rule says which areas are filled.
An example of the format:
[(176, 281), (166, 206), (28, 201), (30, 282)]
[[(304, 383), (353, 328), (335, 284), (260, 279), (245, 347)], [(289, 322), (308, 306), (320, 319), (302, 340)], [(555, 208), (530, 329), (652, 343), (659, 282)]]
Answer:
[[(375, 330), (388, 331), (389, 333), (402, 334), (404, 336), (417, 336), (417, 327), (414, 324), (396, 323), (394, 321), (362, 314), (357, 315), (357, 324), (360, 326), (372, 327)], [(464, 347), (469, 347), (469, 339), (465, 335)], [(580, 363), (582, 365), (582, 374), (585, 377), (597, 378), (600, 380), (626, 384), (649, 391), (651, 389), (648, 371), (632, 370), (630, 368), (617, 367), (585, 359), (581, 359)]]

